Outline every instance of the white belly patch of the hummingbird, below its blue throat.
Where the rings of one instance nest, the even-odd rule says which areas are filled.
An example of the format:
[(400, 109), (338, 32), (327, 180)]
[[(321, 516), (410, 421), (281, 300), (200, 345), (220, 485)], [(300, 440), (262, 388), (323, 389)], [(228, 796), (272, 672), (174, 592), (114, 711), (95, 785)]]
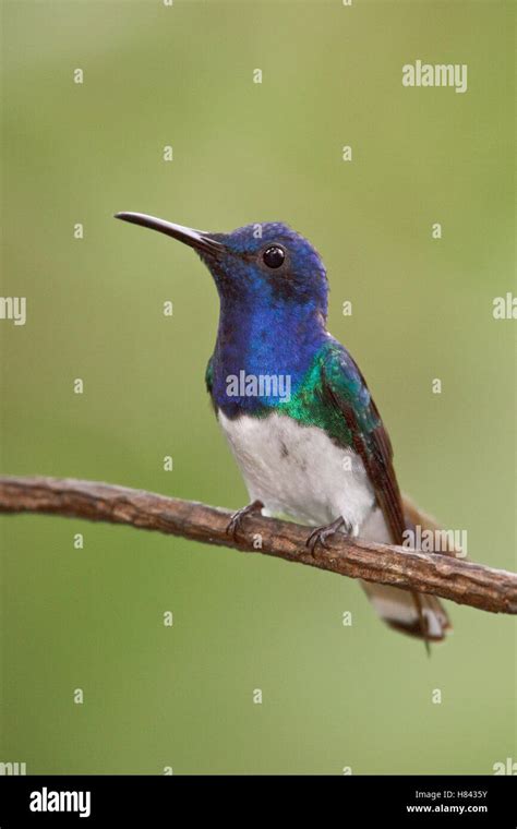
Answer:
[(316, 426), (286, 414), (218, 419), (241, 469), (250, 498), (270, 515), (325, 525), (342, 516), (358, 534), (372, 514), (373, 488), (364, 465)]

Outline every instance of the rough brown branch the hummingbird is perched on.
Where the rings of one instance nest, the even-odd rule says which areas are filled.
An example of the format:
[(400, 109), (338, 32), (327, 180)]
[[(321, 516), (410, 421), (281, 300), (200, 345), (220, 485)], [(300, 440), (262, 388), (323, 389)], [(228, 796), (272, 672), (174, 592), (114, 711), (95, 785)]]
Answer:
[[(413, 522), (430, 519), (407, 506)], [(0, 513), (47, 513), (93, 521), (125, 524), (158, 530), (207, 544), (260, 552), (311, 567), (434, 593), (458, 604), (492, 613), (517, 613), (517, 575), (436, 553), (374, 544), (346, 537), (334, 538), (328, 550), (305, 546), (308, 528), (250, 515), (242, 531), (230, 538), (230, 513), (190, 501), (94, 481), (59, 478), (0, 478)], [(260, 539), (261, 546), (257, 548)]]

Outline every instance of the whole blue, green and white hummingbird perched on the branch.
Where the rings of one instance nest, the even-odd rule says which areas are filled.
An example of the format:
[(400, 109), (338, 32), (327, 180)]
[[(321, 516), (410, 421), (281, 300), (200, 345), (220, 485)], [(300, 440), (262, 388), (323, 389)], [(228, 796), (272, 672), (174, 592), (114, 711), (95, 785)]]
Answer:
[[(190, 245), (214, 279), (219, 323), (205, 382), (250, 495), (228, 532), (261, 512), (308, 525), (313, 554), (339, 532), (401, 545), (389, 436), (357, 363), (326, 328), (328, 280), (313, 245), (276, 221), (224, 233), (142, 213), (116, 218)], [(362, 586), (381, 618), (428, 651), (445, 638), (435, 597)]]

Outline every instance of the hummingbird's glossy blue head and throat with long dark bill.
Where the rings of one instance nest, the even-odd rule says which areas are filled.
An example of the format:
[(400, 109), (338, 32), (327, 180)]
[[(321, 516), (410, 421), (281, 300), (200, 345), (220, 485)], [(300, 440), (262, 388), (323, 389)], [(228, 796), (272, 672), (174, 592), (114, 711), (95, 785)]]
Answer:
[(220, 298), (213, 362), (221, 384), (243, 369), (302, 377), (328, 336), (325, 267), (306, 239), (280, 223), (208, 233), (139, 213), (118, 218), (189, 244), (211, 271)]

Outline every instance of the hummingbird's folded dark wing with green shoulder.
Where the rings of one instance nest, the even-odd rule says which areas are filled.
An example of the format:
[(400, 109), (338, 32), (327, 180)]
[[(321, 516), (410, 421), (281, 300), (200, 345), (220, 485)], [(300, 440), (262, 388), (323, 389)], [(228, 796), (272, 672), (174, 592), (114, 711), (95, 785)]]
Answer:
[(402, 543), (406, 529), (402, 502), (393, 466), (393, 448), (366, 382), (350, 355), (337, 346), (322, 365), (322, 395), (344, 418), (347, 445), (362, 458), (392, 532)]

